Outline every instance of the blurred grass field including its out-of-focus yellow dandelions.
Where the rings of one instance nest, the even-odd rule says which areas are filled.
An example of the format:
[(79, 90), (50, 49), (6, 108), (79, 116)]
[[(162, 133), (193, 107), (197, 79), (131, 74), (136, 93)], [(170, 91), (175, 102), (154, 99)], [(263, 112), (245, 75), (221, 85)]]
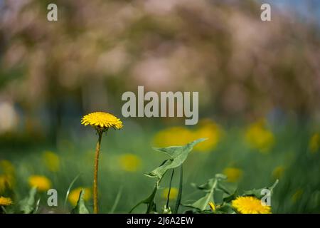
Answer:
[[(198, 128), (186, 128), (184, 125), (166, 128), (163, 125), (142, 127), (124, 120), (122, 130), (112, 129), (102, 138), (100, 213), (127, 213), (152, 192), (156, 180), (144, 173), (154, 170), (166, 159), (152, 147), (167, 146), (166, 143), (184, 145), (184, 141), (190, 142), (195, 137), (208, 137), (208, 140), (201, 142), (206, 143), (203, 147), (199, 143), (183, 163), (181, 204), (194, 202), (203, 196), (192, 183), (202, 184), (215, 174), (223, 173), (230, 185), (238, 186), (240, 193), (271, 186), (278, 179), (279, 184), (272, 195), (272, 213), (320, 212), (320, 140), (311, 123), (261, 120), (251, 124), (228, 124), (206, 120)], [(70, 212), (79, 192), (70, 193), (66, 204), (65, 195), (70, 183), (79, 175), (71, 192), (78, 187), (86, 188), (85, 203), (92, 212), (96, 141), (95, 130), (75, 123), (73, 128), (60, 132), (57, 143), (14, 142), (14, 145), (1, 145), (0, 177), (10, 172), (11, 186), (2, 186), (0, 190), (11, 197), (14, 202), (11, 207), (17, 209), (18, 203), (15, 202), (26, 197), (31, 188), (30, 177), (41, 175), (50, 180), (50, 186), (45, 185), (43, 191), (38, 192), (36, 198), (41, 200), (37, 213)], [(9, 161), (10, 165), (4, 161)], [(161, 181), (155, 197), (159, 212), (166, 204), (170, 176), (167, 174)], [(48, 207), (48, 187), (58, 191), (58, 207)], [(176, 203), (178, 188), (177, 170), (171, 183), (171, 208)], [(187, 209), (181, 206), (178, 212)], [(140, 205), (134, 212), (146, 212), (145, 205)]]

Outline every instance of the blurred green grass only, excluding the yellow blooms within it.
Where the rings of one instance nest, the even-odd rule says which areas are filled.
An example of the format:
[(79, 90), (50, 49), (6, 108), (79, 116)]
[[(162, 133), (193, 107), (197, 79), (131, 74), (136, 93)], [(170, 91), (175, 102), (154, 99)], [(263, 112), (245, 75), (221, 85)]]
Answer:
[[(124, 123), (126, 126), (126, 123)], [(129, 126), (129, 127), (128, 127)], [(112, 210), (119, 190), (122, 194), (114, 212), (129, 212), (137, 202), (150, 194), (155, 180), (144, 176), (160, 165), (165, 159), (151, 149), (151, 140), (159, 129), (140, 128), (134, 123), (128, 123), (124, 130), (112, 130), (107, 137), (102, 138), (100, 170), (99, 170), (99, 202), (100, 213)], [(268, 153), (261, 153), (250, 149), (243, 140), (243, 126), (225, 128), (225, 136), (215, 150), (211, 152), (191, 152), (183, 164), (183, 194), (182, 203), (191, 199), (198, 199), (199, 195), (191, 183), (203, 183), (213, 177), (215, 173), (223, 172), (225, 167), (238, 167), (243, 176), (238, 182), (240, 190), (267, 187), (273, 184), (272, 172), (275, 167), (283, 166), (284, 174), (279, 178), (279, 185), (272, 196), (273, 213), (319, 213), (320, 212), (320, 152), (311, 154), (308, 149), (312, 130), (307, 125), (302, 127), (295, 123), (274, 126), (275, 144)], [(58, 138), (57, 145), (36, 145), (31, 147), (15, 146), (1, 148), (1, 159), (10, 160), (16, 167), (16, 186), (14, 200), (27, 195), (28, 176), (46, 175), (53, 182), (53, 188), (58, 190), (58, 207), (46, 207), (46, 193), (41, 193), (41, 210), (46, 212), (54, 209), (64, 212), (63, 202), (70, 182), (80, 173), (74, 187), (92, 187), (94, 149), (97, 140), (94, 130), (83, 128), (75, 134), (65, 131)], [(178, 137), (178, 135), (177, 135)], [(9, 149), (11, 148), (11, 149)], [(52, 150), (60, 157), (60, 170), (48, 171), (42, 162), (44, 150)], [(119, 167), (118, 156), (124, 153), (139, 156), (142, 165), (137, 172), (127, 172)], [(178, 173), (178, 170), (177, 170)], [(166, 175), (161, 187), (169, 187), (170, 175)], [(172, 187), (178, 188), (179, 177), (176, 175)], [(292, 196), (302, 190), (301, 197), (296, 202)], [(160, 190), (161, 192), (161, 190)], [(166, 199), (161, 193), (156, 196), (158, 207), (164, 207)], [(69, 203), (68, 211), (72, 208)], [(171, 208), (175, 201), (171, 200)], [(92, 211), (92, 201), (87, 203)], [(186, 208), (180, 207), (179, 212)], [(145, 212), (144, 205), (135, 212)]]

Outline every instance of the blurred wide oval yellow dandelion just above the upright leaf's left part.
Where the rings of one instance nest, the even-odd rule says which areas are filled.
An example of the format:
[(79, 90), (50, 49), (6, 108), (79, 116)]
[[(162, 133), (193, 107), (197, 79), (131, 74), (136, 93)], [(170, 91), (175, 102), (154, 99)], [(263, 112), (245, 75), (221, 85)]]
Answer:
[(153, 144), (156, 147), (185, 145), (193, 140), (193, 133), (188, 128), (172, 127), (159, 131), (154, 136)]

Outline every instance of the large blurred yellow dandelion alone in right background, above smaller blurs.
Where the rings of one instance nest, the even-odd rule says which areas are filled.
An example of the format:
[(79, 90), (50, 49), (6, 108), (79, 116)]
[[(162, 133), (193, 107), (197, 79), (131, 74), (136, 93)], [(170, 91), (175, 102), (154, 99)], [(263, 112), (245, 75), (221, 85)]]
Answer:
[(262, 119), (252, 123), (245, 132), (245, 140), (250, 147), (260, 152), (269, 152), (274, 145), (274, 135), (267, 129), (267, 121)]

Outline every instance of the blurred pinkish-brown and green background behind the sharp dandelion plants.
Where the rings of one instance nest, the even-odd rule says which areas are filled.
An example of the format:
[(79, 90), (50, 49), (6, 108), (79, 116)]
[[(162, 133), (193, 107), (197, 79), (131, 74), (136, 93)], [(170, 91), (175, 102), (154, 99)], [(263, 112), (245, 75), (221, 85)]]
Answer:
[[(47, 20), (50, 3), (58, 21)], [(222, 172), (240, 190), (279, 179), (274, 213), (319, 213), (320, 2), (263, 3), (272, 21), (254, 0), (0, 0), (0, 195), (21, 199), (40, 176), (59, 194), (41, 212), (65, 212), (80, 173), (73, 190), (87, 187), (92, 207), (97, 135), (80, 120), (102, 110), (124, 128), (102, 139), (100, 212), (128, 212), (151, 192), (143, 174), (166, 158), (151, 147), (206, 137), (184, 165), (183, 202), (196, 199), (191, 182)], [(123, 118), (121, 95), (137, 86), (199, 91), (198, 125)]]

